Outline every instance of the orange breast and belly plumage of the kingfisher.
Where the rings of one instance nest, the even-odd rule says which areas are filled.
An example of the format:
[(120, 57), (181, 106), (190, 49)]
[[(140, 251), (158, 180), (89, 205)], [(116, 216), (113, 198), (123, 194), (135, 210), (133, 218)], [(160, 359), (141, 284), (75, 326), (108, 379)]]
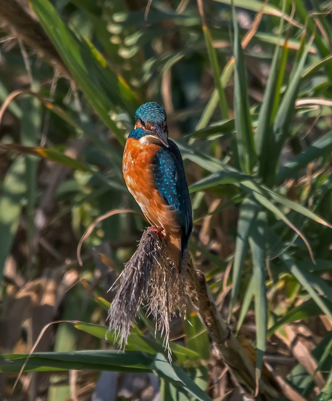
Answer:
[(124, 179), (148, 221), (168, 234), (178, 234), (174, 210), (161, 198), (153, 180), (153, 159), (159, 150), (157, 144), (141, 144), (128, 138), (122, 165)]

